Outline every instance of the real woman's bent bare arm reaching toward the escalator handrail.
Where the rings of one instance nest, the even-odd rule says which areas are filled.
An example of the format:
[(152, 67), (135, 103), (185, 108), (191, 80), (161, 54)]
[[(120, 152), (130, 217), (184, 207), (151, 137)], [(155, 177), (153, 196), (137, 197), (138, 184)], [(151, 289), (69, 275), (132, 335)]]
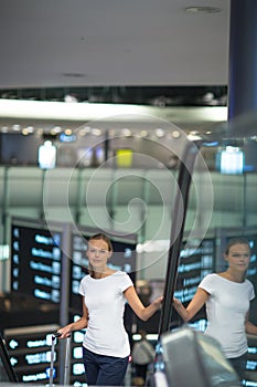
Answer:
[(135, 286), (130, 286), (126, 289), (124, 294), (129, 305), (131, 306), (132, 311), (142, 321), (147, 321), (148, 318), (150, 318), (160, 308), (163, 300), (163, 296), (160, 296), (148, 306), (143, 306), (143, 304), (141, 303), (141, 300), (139, 299), (136, 292)]

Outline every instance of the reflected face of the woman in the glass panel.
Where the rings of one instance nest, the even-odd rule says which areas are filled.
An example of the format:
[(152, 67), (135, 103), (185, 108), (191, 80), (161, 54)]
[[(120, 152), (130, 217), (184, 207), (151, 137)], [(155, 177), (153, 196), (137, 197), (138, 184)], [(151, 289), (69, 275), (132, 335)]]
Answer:
[(229, 268), (245, 272), (250, 261), (250, 250), (247, 244), (236, 243), (229, 248), (228, 254), (224, 255)]

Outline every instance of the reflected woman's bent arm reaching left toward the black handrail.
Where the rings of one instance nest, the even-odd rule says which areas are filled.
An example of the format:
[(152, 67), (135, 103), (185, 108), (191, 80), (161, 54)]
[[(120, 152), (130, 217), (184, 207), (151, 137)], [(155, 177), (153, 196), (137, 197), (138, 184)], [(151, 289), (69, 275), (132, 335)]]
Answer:
[(201, 310), (201, 307), (203, 307), (208, 296), (210, 294), (205, 290), (199, 287), (194, 297), (186, 307), (184, 307), (182, 303), (176, 299), (173, 299), (173, 306), (179, 313), (179, 315), (186, 323), (191, 318), (193, 318), (193, 316)]

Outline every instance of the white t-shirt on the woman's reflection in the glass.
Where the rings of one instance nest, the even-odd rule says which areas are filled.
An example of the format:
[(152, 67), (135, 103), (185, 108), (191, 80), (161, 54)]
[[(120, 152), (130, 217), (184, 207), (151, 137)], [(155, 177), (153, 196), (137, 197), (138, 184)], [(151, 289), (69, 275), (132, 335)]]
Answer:
[(199, 287), (210, 293), (206, 301), (207, 327), (205, 333), (216, 338), (226, 357), (238, 357), (247, 352), (245, 315), (255, 297), (251, 282), (233, 282), (207, 274)]

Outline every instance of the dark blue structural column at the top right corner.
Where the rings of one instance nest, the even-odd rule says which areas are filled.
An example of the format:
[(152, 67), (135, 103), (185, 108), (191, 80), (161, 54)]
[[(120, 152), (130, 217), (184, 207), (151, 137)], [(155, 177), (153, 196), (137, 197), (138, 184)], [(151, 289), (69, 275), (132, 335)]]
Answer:
[(257, 1), (231, 0), (228, 121), (257, 113)]

